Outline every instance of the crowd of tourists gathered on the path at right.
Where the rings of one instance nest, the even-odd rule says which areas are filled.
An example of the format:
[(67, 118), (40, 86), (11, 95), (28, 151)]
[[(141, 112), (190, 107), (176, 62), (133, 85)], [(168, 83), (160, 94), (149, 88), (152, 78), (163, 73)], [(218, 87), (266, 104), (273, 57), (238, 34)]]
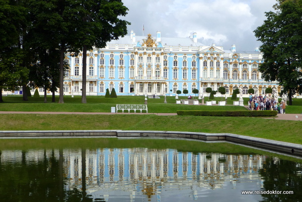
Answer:
[(264, 96), (250, 94), (249, 104), (251, 110), (276, 110), (279, 114), (285, 114), (286, 103), (283, 100), (279, 103), (278, 99), (266, 94)]

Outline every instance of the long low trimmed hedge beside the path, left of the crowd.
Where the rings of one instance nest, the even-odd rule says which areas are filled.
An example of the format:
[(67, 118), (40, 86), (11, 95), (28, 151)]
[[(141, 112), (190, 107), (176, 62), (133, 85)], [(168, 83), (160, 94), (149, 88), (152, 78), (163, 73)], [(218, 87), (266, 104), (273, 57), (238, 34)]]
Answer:
[(198, 111), (186, 110), (177, 111), (177, 115), (181, 116), (276, 116), (277, 111)]

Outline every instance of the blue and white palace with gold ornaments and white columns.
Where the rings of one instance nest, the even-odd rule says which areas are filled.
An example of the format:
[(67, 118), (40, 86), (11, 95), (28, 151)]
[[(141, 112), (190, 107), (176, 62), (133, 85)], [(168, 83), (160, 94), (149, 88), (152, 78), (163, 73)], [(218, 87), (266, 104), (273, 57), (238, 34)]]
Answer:
[[(114, 88), (117, 95), (175, 95), (177, 90), (193, 89), (205, 93), (207, 87), (216, 90), (223, 86), (226, 96), (242, 87), (264, 94), (267, 87), (280, 92), (277, 82), (265, 82), (258, 71), (262, 53), (237, 51), (236, 45), (225, 50), (197, 41), (194, 33), (188, 38), (130, 35), (107, 43), (105, 48), (88, 51), (87, 95), (105, 95)], [(70, 70), (65, 71), (64, 94), (82, 95), (83, 54), (66, 54)], [(217, 93), (216, 96), (220, 96)]]

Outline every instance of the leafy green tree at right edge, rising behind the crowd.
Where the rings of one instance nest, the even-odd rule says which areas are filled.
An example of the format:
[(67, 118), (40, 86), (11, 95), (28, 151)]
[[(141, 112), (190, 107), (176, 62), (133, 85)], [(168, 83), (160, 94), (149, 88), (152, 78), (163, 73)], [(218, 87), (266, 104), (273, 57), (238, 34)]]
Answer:
[(267, 20), (254, 32), (263, 44), (264, 62), (259, 71), (266, 81), (278, 81), (288, 92), (289, 105), (292, 95), (302, 92), (302, 1), (278, 1), (276, 12), (267, 12)]

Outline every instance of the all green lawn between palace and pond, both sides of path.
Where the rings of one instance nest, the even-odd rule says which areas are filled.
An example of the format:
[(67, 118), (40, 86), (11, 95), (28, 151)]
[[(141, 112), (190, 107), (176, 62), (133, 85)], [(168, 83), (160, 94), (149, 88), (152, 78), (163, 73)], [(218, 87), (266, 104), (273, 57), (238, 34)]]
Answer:
[[(50, 99), (50, 97), (49, 97)], [(219, 100), (218, 98), (217, 100)], [(0, 111), (84, 111), (110, 112), (116, 104), (143, 104), (143, 96), (104, 98), (88, 96), (88, 104), (81, 104), (81, 97), (65, 97), (64, 104), (43, 103), (43, 97), (23, 102), (22, 97), (4, 97)], [(175, 113), (177, 110), (245, 110), (239, 106), (195, 106), (175, 104), (175, 97), (148, 99), (149, 112)], [(228, 104), (233, 101), (228, 100)], [(247, 103), (247, 100), (245, 100)], [(286, 113), (301, 113), (301, 99), (294, 99), (294, 106), (287, 106)], [(0, 114), (0, 130), (172, 130), (220, 133), (228, 132), (302, 144), (302, 121), (276, 120), (254, 117), (205, 117), (157, 116), (153, 114), (114, 115), (50, 115), (50, 114)]]

